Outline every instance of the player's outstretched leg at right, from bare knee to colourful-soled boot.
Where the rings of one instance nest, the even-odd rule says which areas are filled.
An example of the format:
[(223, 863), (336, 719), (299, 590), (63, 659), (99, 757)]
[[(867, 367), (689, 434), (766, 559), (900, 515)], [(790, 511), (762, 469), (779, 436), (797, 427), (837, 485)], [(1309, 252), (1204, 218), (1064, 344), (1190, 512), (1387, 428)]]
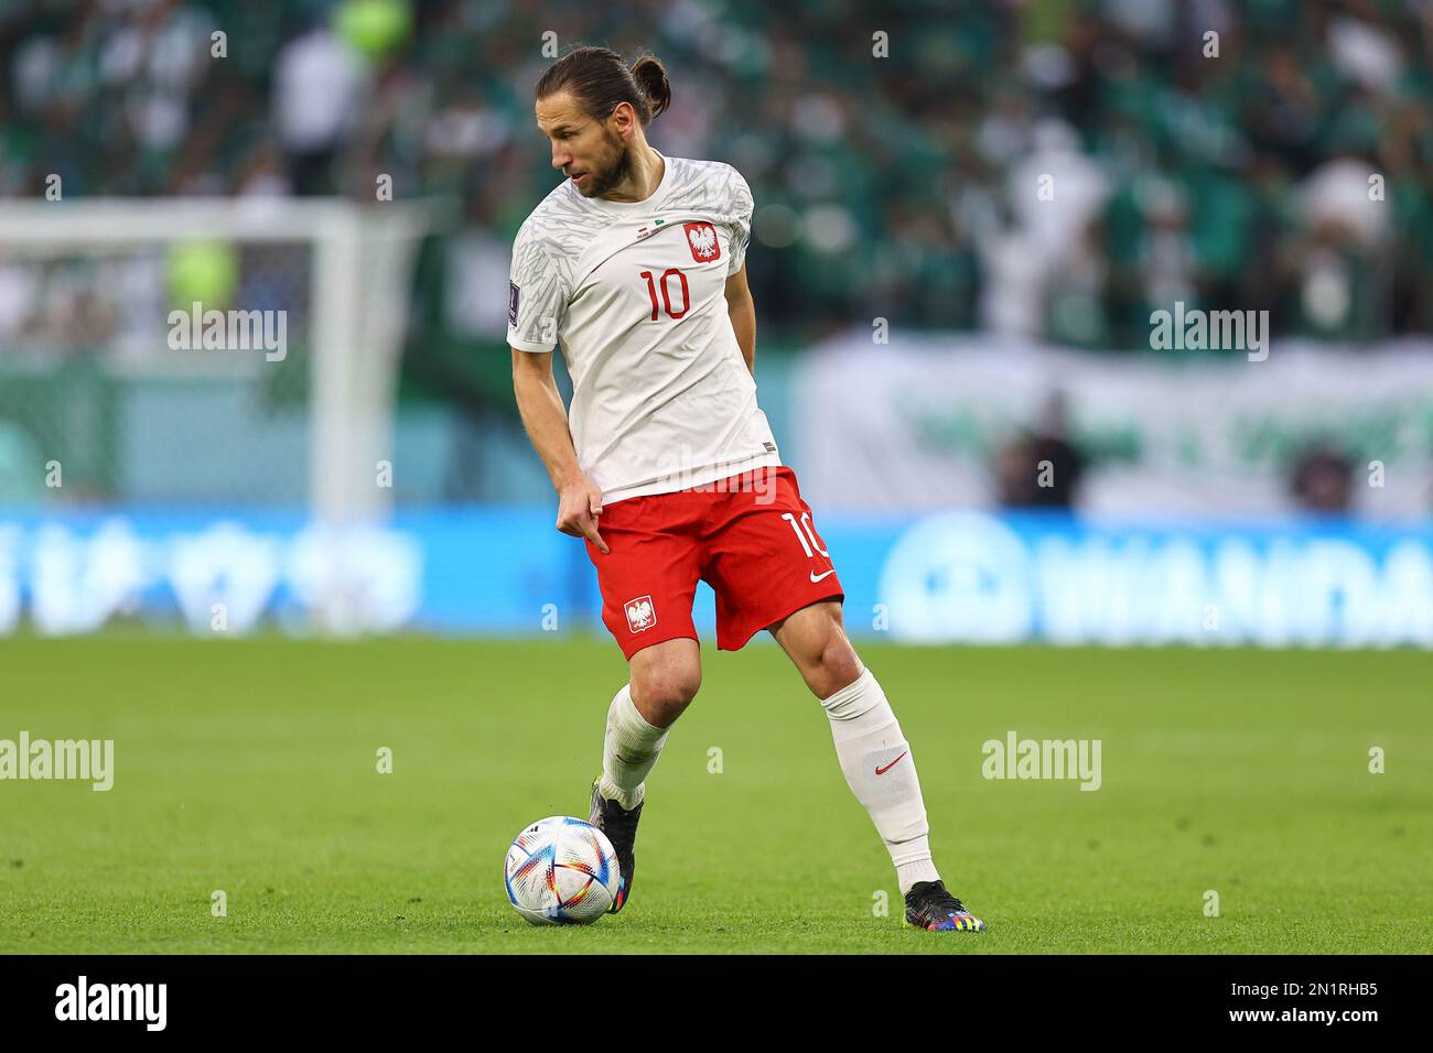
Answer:
[(845, 635), (840, 600), (802, 607), (771, 626), (831, 721), (845, 782), (876, 824), (906, 897), (906, 921), (921, 928), (984, 928), (940, 881), (930, 857), (916, 759), (886, 692)]

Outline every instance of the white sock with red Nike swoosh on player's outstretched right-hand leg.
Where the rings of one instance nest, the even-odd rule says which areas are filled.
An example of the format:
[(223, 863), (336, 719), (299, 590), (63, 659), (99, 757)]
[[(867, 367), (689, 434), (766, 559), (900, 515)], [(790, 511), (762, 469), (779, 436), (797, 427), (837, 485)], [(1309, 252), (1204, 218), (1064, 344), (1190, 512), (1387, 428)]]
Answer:
[(937, 881), (916, 759), (876, 676), (864, 670), (854, 683), (821, 702), (821, 708), (831, 721), (845, 784), (886, 842), (901, 895), (917, 881)]

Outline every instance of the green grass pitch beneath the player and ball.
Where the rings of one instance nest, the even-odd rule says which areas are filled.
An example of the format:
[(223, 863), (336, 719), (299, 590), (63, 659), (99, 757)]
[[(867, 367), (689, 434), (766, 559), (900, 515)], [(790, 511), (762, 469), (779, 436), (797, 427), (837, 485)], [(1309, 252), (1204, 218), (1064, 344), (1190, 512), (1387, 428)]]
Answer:
[[(1427, 655), (858, 649), (983, 934), (901, 924), (825, 716), (770, 643), (704, 645), (628, 908), (535, 928), (503, 855), (586, 815), (625, 679), (610, 642), (110, 633), (0, 643), (0, 738), (115, 739), (110, 792), (0, 782), (0, 953), (1433, 950)], [(1103, 785), (984, 779), (1010, 729), (1101, 739)]]

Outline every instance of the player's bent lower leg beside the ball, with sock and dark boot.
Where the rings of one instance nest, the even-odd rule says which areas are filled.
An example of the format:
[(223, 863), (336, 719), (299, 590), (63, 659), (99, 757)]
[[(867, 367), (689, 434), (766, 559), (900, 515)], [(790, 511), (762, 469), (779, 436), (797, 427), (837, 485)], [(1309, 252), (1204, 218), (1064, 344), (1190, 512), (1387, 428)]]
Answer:
[(612, 699), (602, 745), (602, 775), (592, 784), (589, 821), (618, 852), (622, 884), (609, 913), (626, 905), (636, 870), (633, 847), (642, 818), (645, 779), (666, 742), (668, 729), (702, 686), (696, 640), (653, 643), (632, 656), (631, 679)]

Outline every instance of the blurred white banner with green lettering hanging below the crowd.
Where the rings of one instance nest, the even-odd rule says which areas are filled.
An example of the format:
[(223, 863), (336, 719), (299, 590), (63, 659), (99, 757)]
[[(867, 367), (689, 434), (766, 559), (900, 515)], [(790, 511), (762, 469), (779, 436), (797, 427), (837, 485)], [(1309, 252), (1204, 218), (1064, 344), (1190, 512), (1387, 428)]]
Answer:
[[(817, 507), (999, 504), (996, 461), (1063, 415), (1086, 471), (1076, 510), (1262, 517), (1295, 510), (1315, 448), (1353, 467), (1350, 511), (1433, 514), (1433, 342), (1274, 342), (1244, 354), (1089, 352), (995, 335), (850, 332), (792, 372), (792, 450)], [(1063, 411), (1055, 403), (1063, 403)]]

